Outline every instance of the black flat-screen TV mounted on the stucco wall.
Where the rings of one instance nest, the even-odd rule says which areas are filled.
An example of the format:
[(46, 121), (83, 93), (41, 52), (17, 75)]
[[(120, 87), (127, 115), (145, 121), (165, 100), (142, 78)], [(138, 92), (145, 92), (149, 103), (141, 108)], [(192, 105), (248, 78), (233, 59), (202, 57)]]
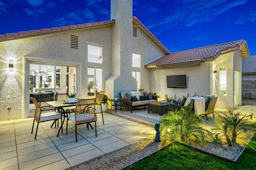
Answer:
[(186, 75), (166, 76), (167, 88), (187, 88)]

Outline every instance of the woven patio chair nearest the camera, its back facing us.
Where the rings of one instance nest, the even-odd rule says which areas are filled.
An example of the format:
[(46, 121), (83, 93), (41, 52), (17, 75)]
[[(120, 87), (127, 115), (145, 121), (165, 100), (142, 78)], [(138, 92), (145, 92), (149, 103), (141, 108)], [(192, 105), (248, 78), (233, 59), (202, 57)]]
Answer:
[[(89, 130), (88, 125), (92, 128), (91, 122), (95, 123), (95, 135), (97, 137), (96, 131), (96, 113), (95, 113), (95, 104), (96, 99), (80, 99), (76, 103), (75, 114), (70, 115), (69, 119), (75, 126), (87, 123), (87, 128)], [(93, 129), (93, 128), (92, 128)], [(76, 130), (76, 142), (77, 142), (77, 130)]]

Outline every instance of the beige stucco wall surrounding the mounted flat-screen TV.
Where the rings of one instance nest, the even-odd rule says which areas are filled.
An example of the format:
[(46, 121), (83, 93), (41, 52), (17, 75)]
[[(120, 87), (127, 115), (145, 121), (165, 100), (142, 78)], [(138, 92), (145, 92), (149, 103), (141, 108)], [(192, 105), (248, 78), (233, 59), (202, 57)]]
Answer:
[[(160, 98), (168, 97), (182, 99), (183, 96), (205, 96), (210, 95), (210, 70), (212, 62), (202, 62), (201, 66), (172, 68), (164, 70), (156, 70), (150, 68), (149, 80), (151, 91), (156, 92)], [(187, 88), (167, 88), (166, 76), (186, 75)]]

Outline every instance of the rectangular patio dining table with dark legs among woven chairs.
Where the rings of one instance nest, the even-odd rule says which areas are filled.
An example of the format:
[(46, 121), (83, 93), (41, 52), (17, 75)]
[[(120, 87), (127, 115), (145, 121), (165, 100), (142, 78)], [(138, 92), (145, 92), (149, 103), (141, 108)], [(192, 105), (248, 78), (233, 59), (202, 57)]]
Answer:
[[(58, 109), (61, 110), (61, 113), (64, 115), (64, 119), (63, 119), (63, 121), (62, 121), (62, 123), (61, 123), (60, 129), (61, 129), (61, 133), (63, 133), (62, 126), (63, 126), (63, 124), (64, 124), (65, 117), (67, 117), (67, 119), (68, 119), (68, 113), (64, 110), (63, 107), (76, 106), (77, 100), (75, 100), (75, 102), (72, 102), (72, 103), (69, 103), (68, 101), (65, 101), (65, 102), (64, 102), (64, 101), (50, 101), (50, 102), (45, 102), (45, 103), (48, 104), (49, 106), (52, 106), (52, 107), (54, 107), (54, 108), (58, 108)], [(67, 115), (65, 115), (65, 113), (66, 113)], [(60, 129), (59, 129), (59, 131), (58, 131), (57, 137), (59, 136)]]

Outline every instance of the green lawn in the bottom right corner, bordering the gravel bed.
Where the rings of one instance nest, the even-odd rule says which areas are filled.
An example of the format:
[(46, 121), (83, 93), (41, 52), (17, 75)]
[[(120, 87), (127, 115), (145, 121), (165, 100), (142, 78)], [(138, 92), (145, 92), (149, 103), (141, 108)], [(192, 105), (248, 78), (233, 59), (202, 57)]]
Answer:
[(254, 170), (256, 169), (256, 135), (237, 162), (211, 156), (183, 144), (168, 146), (137, 162), (128, 170)]

